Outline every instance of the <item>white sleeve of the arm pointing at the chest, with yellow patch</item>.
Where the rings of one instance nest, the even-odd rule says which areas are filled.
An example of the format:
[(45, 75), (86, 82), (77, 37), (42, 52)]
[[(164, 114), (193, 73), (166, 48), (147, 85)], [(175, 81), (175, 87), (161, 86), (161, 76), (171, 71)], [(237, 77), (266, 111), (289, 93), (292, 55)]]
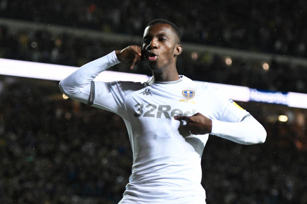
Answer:
[(266, 138), (264, 127), (233, 100), (214, 91), (216, 115), (212, 119), (211, 134), (241, 144), (263, 143)]

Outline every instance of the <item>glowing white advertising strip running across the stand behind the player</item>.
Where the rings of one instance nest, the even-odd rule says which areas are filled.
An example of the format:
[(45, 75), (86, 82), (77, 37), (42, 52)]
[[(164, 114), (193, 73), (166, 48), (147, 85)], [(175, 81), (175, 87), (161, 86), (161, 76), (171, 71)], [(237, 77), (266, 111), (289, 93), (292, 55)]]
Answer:
[[(58, 64), (48, 64), (48, 63), (39, 63), (32, 61), (21, 61), (15, 59), (4, 59), (0, 58), (0, 75), (11, 75), (11, 76), (21, 76), (21, 77), (30, 77), (30, 78), (40, 78), (47, 80), (57, 80), (60, 81), (63, 78), (67, 77), (69, 74), (74, 72), (78, 67), (58, 65)], [(135, 82), (144, 82), (149, 79), (150, 76), (145, 74), (136, 74), (136, 73), (126, 73), (119, 71), (108, 71), (105, 70), (100, 73), (94, 80), (95, 81), (135, 81)], [(199, 83), (204, 83), (203, 81), (197, 81)], [(229, 85), (221, 83), (212, 83), (208, 82), (209, 85), (220, 89), (225, 95), (229, 98), (239, 101), (251, 101), (253, 89), (248, 88), (247, 86), (238, 86), (238, 85)], [(268, 102), (271, 103), (276, 100), (276, 94), (283, 94), (279, 92), (274, 92), (271, 96), (268, 97)], [(278, 95), (277, 94), (277, 95)], [(265, 98), (267, 95), (265, 94)], [(297, 92), (287, 92), (286, 94), (286, 105), (289, 107), (300, 107), (307, 109), (307, 94), (306, 93), (297, 93)], [(260, 98), (261, 99), (261, 98)], [(261, 100), (257, 101), (261, 101)], [(277, 117), (275, 117), (277, 119)], [(290, 120), (290, 118), (289, 118)]]

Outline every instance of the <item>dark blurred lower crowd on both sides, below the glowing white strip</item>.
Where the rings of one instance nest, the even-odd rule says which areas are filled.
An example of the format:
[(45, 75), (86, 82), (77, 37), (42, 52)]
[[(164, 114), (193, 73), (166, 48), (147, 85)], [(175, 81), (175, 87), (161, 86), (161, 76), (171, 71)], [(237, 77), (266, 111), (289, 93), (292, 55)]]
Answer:
[[(210, 135), (202, 157), (207, 202), (306, 203), (305, 122), (267, 122), (269, 107), (242, 106), (267, 140), (241, 145)], [(0, 203), (121, 199), (132, 151), (118, 115), (63, 99), (57, 81), (8, 76), (0, 78), (0, 109)]]

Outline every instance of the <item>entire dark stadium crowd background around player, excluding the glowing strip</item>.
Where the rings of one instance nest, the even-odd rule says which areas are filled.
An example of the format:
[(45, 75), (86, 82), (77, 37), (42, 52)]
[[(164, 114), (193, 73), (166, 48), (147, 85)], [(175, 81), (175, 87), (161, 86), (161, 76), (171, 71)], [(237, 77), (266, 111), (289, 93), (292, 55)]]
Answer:
[[(157, 17), (175, 22), (183, 42), (246, 53), (306, 57), (303, 0), (86, 1), (0, 0), (0, 57), (80, 66), (130, 43), (44, 29), (23, 20), (141, 36)], [(35, 24), (36, 25), (36, 24)], [(36, 44), (35, 44), (35, 43)], [(196, 80), (307, 93), (307, 65), (184, 50), (178, 69)], [(1, 64), (0, 64), (1, 66)], [(119, 64), (115, 71), (129, 71)], [(145, 64), (133, 72), (150, 74)], [(306, 109), (238, 102), (267, 130), (264, 144), (241, 145), (210, 135), (202, 157), (207, 203), (307, 203)], [(286, 114), (287, 122), (277, 120)], [(0, 77), (0, 203), (117, 203), (131, 173), (122, 119), (63, 99), (58, 81)]]

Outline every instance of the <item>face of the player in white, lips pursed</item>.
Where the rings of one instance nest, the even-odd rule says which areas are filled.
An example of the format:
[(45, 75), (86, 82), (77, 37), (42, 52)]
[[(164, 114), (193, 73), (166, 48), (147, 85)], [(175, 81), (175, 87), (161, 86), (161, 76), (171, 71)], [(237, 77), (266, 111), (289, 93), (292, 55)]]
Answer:
[(142, 52), (152, 71), (176, 68), (177, 56), (182, 51), (182, 45), (178, 42), (169, 24), (157, 23), (145, 28)]

